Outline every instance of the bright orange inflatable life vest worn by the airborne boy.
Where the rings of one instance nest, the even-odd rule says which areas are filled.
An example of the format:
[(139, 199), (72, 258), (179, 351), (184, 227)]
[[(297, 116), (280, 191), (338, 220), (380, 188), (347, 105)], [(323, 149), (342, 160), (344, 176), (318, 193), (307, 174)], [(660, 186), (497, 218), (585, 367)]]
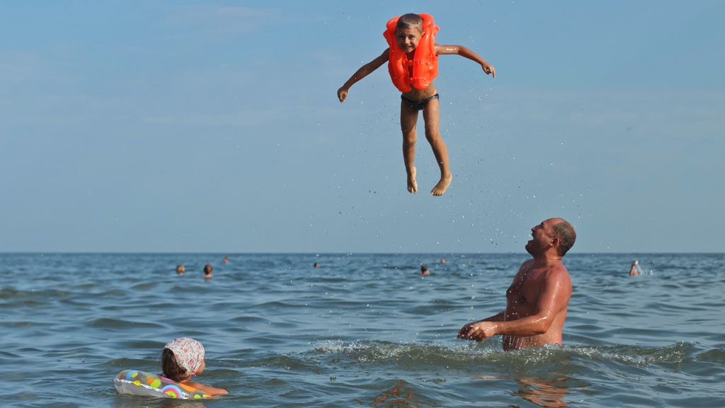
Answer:
[(395, 38), (395, 27), (400, 16), (390, 19), (383, 33), (390, 46), (388, 72), (393, 84), (401, 92), (410, 92), (411, 86), (415, 86), (416, 89), (426, 89), (433, 78), (438, 76), (438, 56), (435, 44), (439, 28), (433, 23), (433, 16), (427, 14), (420, 16), (423, 17), (423, 36), (418, 46), (415, 47), (413, 60), (408, 60)]

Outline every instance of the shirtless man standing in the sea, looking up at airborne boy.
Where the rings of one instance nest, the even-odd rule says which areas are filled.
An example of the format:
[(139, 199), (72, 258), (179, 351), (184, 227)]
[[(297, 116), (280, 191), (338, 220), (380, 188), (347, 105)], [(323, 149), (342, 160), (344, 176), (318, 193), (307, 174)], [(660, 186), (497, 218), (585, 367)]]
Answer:
[(524, 262), (506, 291), (506, 309), (468, 323), (458, 338), (486, 340), (503, 335), (503, 349), (561, 344), (561, 330), (571, 298), (571, 278), (561, 258), (574, 245), (574, 227), (563, 219), (547, 219), (531, 228)]

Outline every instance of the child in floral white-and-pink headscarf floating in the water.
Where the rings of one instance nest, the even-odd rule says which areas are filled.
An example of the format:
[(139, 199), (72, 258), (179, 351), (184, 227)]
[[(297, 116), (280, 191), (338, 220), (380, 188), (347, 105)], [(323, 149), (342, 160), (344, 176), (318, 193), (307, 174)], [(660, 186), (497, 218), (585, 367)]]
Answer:
[(164, 377), (197, 388), (211, 396), (228, 394), (222, 388), (190, 381), (194, 375), (201, 374), (204, 367), (206, 367), (204, 346), (193, 338), (177, 338), (168, 343), (161, 353), (161, 368), (164, 370)]

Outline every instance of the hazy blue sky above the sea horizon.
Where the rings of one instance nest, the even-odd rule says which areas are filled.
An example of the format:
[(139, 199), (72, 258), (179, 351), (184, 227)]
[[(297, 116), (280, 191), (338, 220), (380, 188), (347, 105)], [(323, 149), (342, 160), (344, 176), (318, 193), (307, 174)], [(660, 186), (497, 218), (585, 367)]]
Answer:
[[(401, 4), (0, 0), (0, 252), (724, 252), (725, 2)], [(407, 12), (497, 73), (439, 58), (442, 197), (385, 67), (336, 97)]]

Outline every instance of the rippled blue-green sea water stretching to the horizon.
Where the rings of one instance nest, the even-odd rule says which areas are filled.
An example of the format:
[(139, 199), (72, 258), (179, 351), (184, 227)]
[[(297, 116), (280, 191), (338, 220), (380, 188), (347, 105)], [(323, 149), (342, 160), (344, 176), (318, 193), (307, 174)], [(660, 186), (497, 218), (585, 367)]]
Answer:
[[(457, 339), (527, 258), (2, 253), (0, 406), (725, 407), (725, 254), (572, 252), (562, 346)], [(117, 372), (161, 372), (178, 337), (228, 396), (117, 393)]]

